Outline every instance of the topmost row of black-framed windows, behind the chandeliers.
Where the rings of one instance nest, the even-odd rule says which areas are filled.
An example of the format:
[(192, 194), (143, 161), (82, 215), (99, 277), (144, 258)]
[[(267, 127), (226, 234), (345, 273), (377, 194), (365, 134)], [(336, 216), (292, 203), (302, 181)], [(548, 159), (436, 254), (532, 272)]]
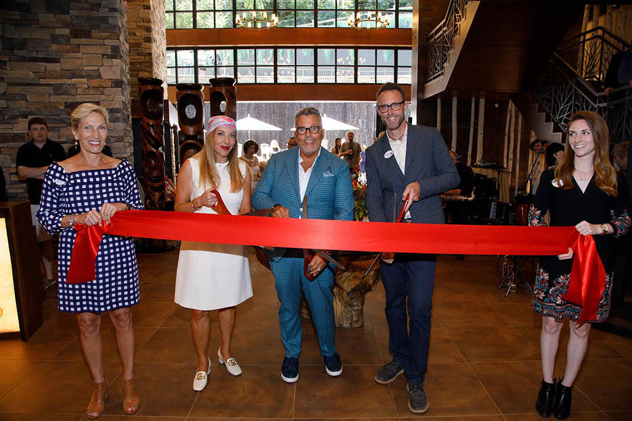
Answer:
[(389, 28), (411, 28), (413, 0), (165, 0), (167, 29), (234, 28), (235, 13), (275, 11), (279, 27), (348, 28), (355, 11), (381, 11)]

